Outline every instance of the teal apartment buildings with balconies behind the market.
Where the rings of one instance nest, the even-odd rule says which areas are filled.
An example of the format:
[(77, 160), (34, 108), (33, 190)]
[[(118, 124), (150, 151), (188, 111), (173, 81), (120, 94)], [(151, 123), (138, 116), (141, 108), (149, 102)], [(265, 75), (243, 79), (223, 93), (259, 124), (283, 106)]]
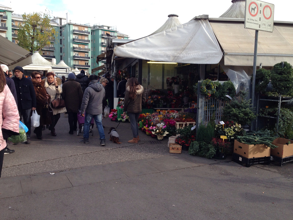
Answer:
[[(12, 12), (11, 8), (0, 4), (0, 35), (17, 44), (17, 32), (23, 18), (22, 15)], [(119, 33), (116, 27), (71, 23), (68, 15), (66, 18), (54, 17), (50, 24), (56, 29), (58, 36), (50, 39), (50, 45), (43, 47), (40, 55), (48, 61), (56, 59), (56, 63), (63, 60), (72, 69), (84, 70), (88, 74), (91, 73), (91, 69), (105, 62), (102, 60), (96, 63), (96, 58), (106, 50), (104, 38), (107, 37), (107, 33), (115, 39), (128, 39), (128, 35)]]

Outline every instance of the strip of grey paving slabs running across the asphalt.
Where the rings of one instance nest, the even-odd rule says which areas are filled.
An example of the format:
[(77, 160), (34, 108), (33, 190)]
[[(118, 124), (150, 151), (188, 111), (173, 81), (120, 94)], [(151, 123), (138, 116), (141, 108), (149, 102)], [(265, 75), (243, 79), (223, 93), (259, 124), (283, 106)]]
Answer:
[(183, 152), (182, 154), (159, 158), (130, 160), (32, 175), (2, 177), (0, 178), (0, 198), (47, 192), (226, 161), (231, 161), (231, 158), (226, 160), (206, 159)]

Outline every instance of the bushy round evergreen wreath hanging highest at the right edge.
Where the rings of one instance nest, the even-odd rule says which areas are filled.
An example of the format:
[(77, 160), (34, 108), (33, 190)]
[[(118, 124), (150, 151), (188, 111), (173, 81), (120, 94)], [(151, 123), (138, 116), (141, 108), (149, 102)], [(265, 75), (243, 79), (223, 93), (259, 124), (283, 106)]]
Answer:
[(281, 95), (292, 92), (293, 70), (290, 63), (284, 62), (284, 68), (282, 68), (282, 62), (275, 64), (271, 77), (273, 92), (278, 92)]

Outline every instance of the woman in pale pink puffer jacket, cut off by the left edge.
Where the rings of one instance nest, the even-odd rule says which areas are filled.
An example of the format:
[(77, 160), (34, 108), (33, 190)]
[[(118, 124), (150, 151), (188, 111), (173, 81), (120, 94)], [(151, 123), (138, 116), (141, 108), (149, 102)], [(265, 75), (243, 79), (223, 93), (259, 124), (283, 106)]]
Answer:
[(6, 85), (4, 72), (0, 67), (0, 177), (3, 165), (6, 139), (19, 133), (19, 114), (15, 99)]

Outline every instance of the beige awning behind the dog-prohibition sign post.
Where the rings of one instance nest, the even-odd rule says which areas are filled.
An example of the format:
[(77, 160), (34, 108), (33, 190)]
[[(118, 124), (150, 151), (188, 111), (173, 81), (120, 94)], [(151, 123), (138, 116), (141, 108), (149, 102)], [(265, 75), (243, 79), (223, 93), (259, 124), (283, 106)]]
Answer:
[[(244, 21), (209, 20), (224, 50), (225, 65), (253, 66), (255, 30), (244, 28)], [(257, 65), (273, 66), (287, 61), (293, 64), (293, 23), (274, 23), (272, 33), (258, 32)]]

